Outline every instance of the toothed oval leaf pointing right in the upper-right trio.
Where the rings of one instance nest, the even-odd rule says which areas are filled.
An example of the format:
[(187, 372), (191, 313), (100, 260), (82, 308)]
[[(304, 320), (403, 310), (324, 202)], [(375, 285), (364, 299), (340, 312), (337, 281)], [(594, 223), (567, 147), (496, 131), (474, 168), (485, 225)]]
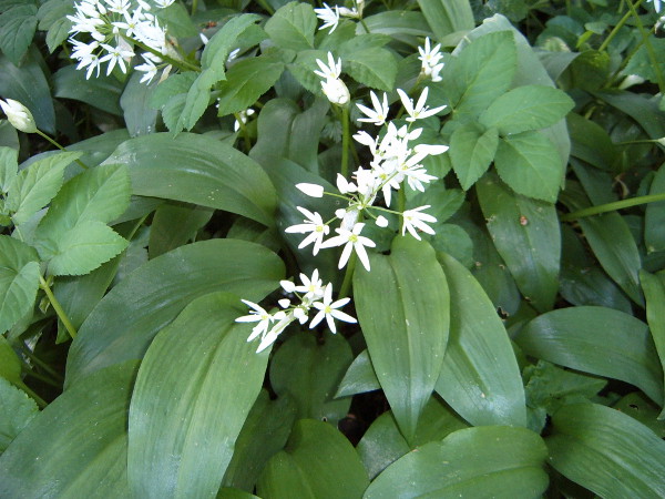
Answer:
[(495, 126), (501, 135), (508, 135), (552, 126), (573, 105), (573, 100), (559, 89), (524, 85), (492, 102), (479, 120), (488, 128)]

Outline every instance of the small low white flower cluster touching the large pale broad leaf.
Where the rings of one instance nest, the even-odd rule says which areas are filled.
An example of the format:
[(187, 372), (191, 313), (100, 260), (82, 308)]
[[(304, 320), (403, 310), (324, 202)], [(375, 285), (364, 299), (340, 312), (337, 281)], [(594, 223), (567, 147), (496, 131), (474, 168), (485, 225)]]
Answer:
[(286, 293), (294, 295), (299, 303), (293, 305), (289, 298), (280, 299), (278, 304), (283, 309), (272, 314), (262, 308), (260, 305), (243, 299), (243, 303), (252, 308), (252, 310), (249, 310), (249, 315), (238, 317), (236, 323), (258, 323), (254, 326), (252, 334), (247, 338), (247, 342), (252, 342), (260, 337), (260, 343), (256, 350), (257, 354), (275, 343), (277, 336), (289, 324), (296, 320), (300, 324), (307, 323), (311, 309), (318, 312), (309, 323), (310, 329), (316, 327), (324, 318), (332, 333), (337, 332), (335, 319), (356, 323), (354, 317), (339, 310), (339, 308), (350, 302), (350, 298), (332, 302), (332, 284), (328, 283), (324, 286), (319, 278), (318, 269), (314, 271), (311, 277), (300, 274), (300, 282), (301, 285), (299, 286), (296, 286), (290, 281), (282, 281), (279, 283), (282, 288)]

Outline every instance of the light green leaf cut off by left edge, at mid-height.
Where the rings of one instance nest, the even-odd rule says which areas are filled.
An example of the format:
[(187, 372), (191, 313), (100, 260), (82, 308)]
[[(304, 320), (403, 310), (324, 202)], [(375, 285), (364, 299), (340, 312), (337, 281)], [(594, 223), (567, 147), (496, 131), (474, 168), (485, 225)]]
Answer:
[(0, 334), (30, 312), (40, 275), (37, 252), (19, 240), (0, 235)]

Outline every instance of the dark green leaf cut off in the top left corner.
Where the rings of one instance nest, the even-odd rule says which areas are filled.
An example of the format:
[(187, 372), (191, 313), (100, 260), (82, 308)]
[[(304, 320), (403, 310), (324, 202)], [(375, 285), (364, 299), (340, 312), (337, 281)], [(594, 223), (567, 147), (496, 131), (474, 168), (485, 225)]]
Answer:
[(37, 6), (27, 2), (0, 16), (0, 49), (11, 62), (19, 65), (37, 30)]

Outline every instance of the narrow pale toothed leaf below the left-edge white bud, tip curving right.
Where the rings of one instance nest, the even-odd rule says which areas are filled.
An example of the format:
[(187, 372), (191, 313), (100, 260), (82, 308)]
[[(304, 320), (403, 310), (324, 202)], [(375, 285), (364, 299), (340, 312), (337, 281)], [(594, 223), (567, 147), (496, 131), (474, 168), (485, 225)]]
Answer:
[(6, 207), (17, 225), (28, 221), (60, 191), (66, 165), (81, 157), (80, 152), (59, 152), (35, 161), (14, 177)]

